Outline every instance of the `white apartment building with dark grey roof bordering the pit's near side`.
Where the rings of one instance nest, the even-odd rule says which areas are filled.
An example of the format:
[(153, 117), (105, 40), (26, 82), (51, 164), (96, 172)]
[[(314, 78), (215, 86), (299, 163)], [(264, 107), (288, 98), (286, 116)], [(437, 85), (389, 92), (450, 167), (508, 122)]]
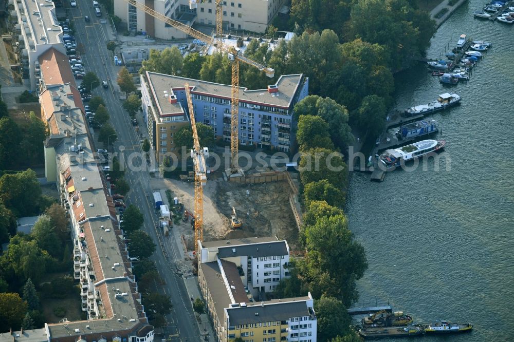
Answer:
[(253, 297), (273, 292), (289, 276), (289, 245), (276, 237), (198, 242), (201, 262), (225, 260), (235, 263), (244, 286)]

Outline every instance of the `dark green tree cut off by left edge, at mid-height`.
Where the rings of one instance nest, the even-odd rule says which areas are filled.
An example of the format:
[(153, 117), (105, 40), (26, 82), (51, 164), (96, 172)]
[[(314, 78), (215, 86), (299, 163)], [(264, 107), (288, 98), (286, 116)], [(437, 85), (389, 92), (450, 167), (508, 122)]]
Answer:
[(21, 141), (21, 131), (14, 120), (0, 119), (0, 169), (10, 169), (16, 164)]

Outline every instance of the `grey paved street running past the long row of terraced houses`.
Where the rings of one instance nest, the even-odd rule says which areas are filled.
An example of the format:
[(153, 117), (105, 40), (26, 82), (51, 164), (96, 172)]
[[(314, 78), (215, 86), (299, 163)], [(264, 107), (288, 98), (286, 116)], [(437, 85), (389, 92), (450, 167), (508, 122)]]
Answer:
[[(150, 188), (148, 169), (141, 158), (143, 151), (139, 137), (113, 90), (116, 88), (114, 84), (116, 70), (108, 61), (109, 51), (106, 48), (106, 41), (111, 39), (111, 27), (108, 24), (100, 23), (99, 18), (95, 16), (92, 1), (77, 2), (77, 4), (77, 8), (71, 9), (71, 14), (75, 18), (77, 43), (84, 45), (84, 53), (82, 53), (84, 68), (86, 71), (96, 72), (101, 81), (109, 80), (108, 89), (98, 87), (93, 93), (103, 97), (106, 103), (118, 135), (115, 151), (122, 151), (120, 160), (125, 160), (125, 165), (129, 166), (125, 171), (125, 177), (131, 185), (127, 202), (137, 204), (140, 208), (144, 215), (143, 229), (157, 243), (162, 236), (155, 227), (157, 216), (151, 201), (152, 198), (147, 198), (147, 196), (151, 196), (152, 189)], [(84, 15), (89, 16), (90, 22), (84, 21)], [(130, 167), (131, 164), (134, 167)], [(173, 303), (173, 313), (167, 317), (169, 331), (172, 334), (171, 340), (198, 340), (200, 334), (195, 324), (186, 286), (183, 279), (174, 272), (175, 260), (181, 258), (180, 251), (177, 249), (176, 241), (168, 240), (164, 244), (157, 243), (157, 250), (152, 258), (157, 264), (159, 274), (166, 281), (166, 286), (161, 287), (159, 292), (169, 295)]]

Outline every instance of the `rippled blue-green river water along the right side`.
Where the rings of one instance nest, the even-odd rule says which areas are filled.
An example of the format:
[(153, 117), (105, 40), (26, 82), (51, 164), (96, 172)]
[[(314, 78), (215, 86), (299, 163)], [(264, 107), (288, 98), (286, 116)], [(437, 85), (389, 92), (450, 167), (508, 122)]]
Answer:
[[(428, 49), (444, 56), (462, 33), (493, 43), (470, 81), (451, 89), (462, 105), (433, 116), (449, 170), (442, 158), (438, 171), (432, 160), (382, 183), (354, 173), (348, 191), (350, 228), (369, 262), (356, 306), (389, 302), (417, 322), (474, 326), (426, 341), (514, 341), (514, 25), (473, 19), (484, 3), (465, 3)], [(396, 89), (400, 109), (449, 90), (423, 65), (398, 75)]]

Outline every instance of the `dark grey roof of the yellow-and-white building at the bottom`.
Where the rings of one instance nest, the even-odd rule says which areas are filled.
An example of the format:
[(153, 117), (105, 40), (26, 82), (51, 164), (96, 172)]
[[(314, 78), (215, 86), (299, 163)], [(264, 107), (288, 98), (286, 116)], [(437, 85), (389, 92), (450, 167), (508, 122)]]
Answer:
[(306, 299), (286, 302), (256, 302), (245, 307), (228, 308), (230, 326), (258, 322), (289, 320), (291, 317), (309, 316)]

